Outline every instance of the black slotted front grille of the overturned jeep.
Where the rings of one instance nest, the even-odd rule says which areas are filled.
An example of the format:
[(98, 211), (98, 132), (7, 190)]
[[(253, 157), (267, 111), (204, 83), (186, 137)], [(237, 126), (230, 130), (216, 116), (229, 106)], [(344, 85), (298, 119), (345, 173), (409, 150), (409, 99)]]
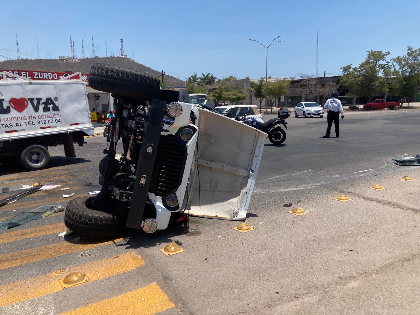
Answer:
[(179, 143), (178, 138), (168, 134), (163, 145), (163, 152), (160, 157), (159, 171), (157, 173), (154, 194), (164, 196), (173, 189), (176, 189), (181, 173), (184, 147)]

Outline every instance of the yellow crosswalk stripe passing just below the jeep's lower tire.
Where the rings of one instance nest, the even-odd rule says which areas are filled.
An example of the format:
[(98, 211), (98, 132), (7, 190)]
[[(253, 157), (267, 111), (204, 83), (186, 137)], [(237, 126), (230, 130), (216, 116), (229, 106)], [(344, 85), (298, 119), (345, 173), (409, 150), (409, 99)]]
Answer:
[[(80, 239), (79, 241), (73, 240), (72, 243), (62, 240), (60, 243), (24, 249), (19, 252), (0, 255), (0, 270), (27, 264), (29, 262), (79, 252), (92, 247), (104, 246), (121, 240), (123, 239), (115, 239), (113, 241), (104, 241), (103, 239)], [(97, 241), (97, 243), (95, 243), (95, 241)]]

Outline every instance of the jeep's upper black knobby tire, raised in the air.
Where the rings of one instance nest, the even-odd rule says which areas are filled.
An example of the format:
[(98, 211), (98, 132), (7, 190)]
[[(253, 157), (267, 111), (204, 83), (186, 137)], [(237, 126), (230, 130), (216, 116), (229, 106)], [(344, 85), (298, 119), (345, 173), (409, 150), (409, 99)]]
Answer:
[(158, 98), (160, 81), (126, 68), (95, 63), (90, 68), (89, 86), (103, 92), (150, 101)]

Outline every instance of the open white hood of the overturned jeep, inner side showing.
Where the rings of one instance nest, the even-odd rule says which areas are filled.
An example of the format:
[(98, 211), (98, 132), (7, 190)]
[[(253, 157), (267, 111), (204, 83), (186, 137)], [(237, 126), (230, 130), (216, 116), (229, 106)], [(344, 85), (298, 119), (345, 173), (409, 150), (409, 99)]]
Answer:
[(197, 176), (186, 214), (246, 218), (267, 134), (216, 113), (199, 110)]

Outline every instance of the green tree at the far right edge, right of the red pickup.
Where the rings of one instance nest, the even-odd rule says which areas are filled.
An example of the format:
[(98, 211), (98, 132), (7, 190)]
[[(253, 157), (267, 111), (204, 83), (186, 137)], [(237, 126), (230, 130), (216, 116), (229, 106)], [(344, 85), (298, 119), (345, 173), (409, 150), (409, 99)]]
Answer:
[(420, 85), (420, 48), (408, 46), (405, 56), (393, 58), (391, 62), (394, 77), (391, 87), (395, 95), (401, 96), (402, 106), (403, 98), (415, 96)]

